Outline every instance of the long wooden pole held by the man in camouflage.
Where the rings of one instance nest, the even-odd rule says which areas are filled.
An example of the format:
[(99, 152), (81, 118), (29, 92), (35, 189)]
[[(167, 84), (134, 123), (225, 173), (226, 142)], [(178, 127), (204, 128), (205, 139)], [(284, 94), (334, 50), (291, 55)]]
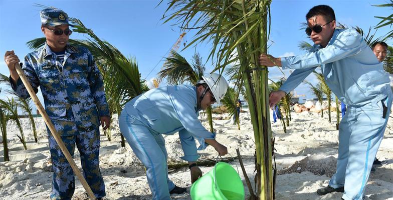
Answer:
[(42, 106), (40, 100), (38, 99), (36, 92), (34, 92), (32, 85), (30, 85), (30, 82), (28, 81), (25, 73), (23, 72), (21, 66), (19, 66), (18, 63), (15, 64), (15, 69), (17, 70), (17, 72), (19, 74), (19, 78), (21, 78), (23, 84), (25, 85), (27, 91), (29, 92), (30, 97), (32, 97), (34, 103), (36, 104), (37, 109), (40, 111), (41, 115), (44, 117), (44, 121), (47, 124), (47, 126), (49, 127), (49, 130), (51, 130), (51, 133), (52, 133), (53, 137), (55, 137), (56, 142), (59, 144), (60, 149), (62, 150), (62, 152), (66, 156), (68, 162), (70, 163), (72, 170), (74, 171), (76, 176), (78, 176), (79, 180), (81, 181), (81, 183), (82, 183), (83, 187), (85, 188), (87, 194), (89, 195), (90, 199), (95, 200), (96, 197), (95, 197), (93, 191), (91, 190), (89, 184), (86, 182), (85, 177), (83, 177), (81, 171), (79, 170), (78, 166), (76, 165), (70, 152), (68, 152), (67, 147), (63, 143), (63, 140), (61, 139), (59, 134), (57, 134), (55, 126), (53, 125), (51, 119), (49, 119), (49, 116), (48, 116), (47, 112), (45, 111), (44, 107)]

